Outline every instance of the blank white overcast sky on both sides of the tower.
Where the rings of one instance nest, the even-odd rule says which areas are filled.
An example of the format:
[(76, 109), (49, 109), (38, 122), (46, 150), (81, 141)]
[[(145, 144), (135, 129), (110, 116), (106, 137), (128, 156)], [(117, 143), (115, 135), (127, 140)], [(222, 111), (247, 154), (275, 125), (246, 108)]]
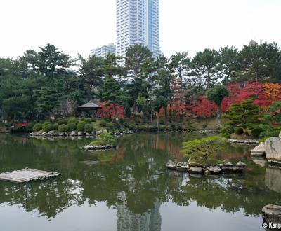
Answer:
[[(77, 57), (116, 40), (116, 0), (0, 0), (0, 57), (52, 43)], [(164, 55), (251, 39), (281, 45), (281, 0), (159, 0)], [(116, 42), (115, 42), (116, 43)]]

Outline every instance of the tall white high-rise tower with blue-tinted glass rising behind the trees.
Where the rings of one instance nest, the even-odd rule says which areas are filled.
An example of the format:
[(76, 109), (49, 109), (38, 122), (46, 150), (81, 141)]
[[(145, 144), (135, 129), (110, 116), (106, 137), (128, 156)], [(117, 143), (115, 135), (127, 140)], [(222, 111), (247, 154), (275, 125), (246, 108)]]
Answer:
[(124, 57), (134, 44), (162, 55), (159, 44), (159, 0), (117, 0), (117, 55)]

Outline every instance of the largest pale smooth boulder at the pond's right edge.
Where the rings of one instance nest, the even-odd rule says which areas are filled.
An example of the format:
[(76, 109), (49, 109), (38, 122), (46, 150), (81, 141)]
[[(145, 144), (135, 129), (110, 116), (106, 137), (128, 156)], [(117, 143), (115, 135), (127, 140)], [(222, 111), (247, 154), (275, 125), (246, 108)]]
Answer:
[(281, 139), (279, 137), (271, 137), (264, 142), (266, 158), (272, 163), (281, 163)]

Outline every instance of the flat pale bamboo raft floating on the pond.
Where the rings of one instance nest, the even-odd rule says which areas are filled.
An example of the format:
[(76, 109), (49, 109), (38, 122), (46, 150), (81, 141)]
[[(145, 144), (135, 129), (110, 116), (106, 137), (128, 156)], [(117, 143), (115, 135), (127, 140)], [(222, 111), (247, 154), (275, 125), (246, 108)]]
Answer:
[(25, 168), (22, 170), (1, 173), (0, 180), (11, 181), (15, 183), (26, 183), (29, 181), (48, 179), (55, 176), (60, 176), (60, 173)]

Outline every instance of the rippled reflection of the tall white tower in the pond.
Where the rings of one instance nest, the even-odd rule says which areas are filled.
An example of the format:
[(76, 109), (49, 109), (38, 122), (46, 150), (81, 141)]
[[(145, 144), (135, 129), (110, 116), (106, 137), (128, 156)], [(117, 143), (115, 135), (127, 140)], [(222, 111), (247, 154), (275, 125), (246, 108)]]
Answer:
[(154, 203), (154, 208), (143, 214), (134, 214), (126, 207), (126, 195), (119, 194), (122, 203), (117, 205), (118, 231), (158, 231), (161, 230), (160, 202)]

